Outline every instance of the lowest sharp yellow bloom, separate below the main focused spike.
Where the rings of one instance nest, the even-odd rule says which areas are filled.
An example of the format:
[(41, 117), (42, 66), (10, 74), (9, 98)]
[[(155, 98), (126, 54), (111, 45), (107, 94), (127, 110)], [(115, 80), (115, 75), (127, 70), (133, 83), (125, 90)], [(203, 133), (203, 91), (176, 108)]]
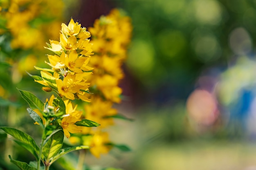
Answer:
[(76, 111), (77, 105), (73, 108), (72, 103), (65, 100), (66, 105), (66, 117), (61, 120), (61, 127), (63, 128), (64, 135), (69, 138), (70, 133), (82, 132), (80, 126), (76, 126), (75, 123), (79, 122), (81, 119), (82, 111)]

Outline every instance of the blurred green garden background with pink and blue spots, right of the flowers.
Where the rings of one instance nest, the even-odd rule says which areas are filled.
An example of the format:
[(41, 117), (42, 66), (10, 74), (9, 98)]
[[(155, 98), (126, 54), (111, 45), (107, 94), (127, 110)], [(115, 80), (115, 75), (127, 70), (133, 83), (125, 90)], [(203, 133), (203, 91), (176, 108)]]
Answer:
[(64, 4), (65, 23), (72, 17), (89, 27), (112, 8), (132, 19), (124, 99), (116, 108), (135, 121), (110, 128), (112, 140), (132, 152), (112, 150), (88, 157), (88, 164), (95, 170), (256, 170), (256, 0)]

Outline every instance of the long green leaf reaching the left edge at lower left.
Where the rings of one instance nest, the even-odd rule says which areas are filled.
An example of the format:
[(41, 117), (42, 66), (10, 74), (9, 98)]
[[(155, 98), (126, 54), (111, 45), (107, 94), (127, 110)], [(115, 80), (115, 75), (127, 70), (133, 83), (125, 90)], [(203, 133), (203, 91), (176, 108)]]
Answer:
[[(24, 133), (22, 131), (19, 131), (18, 129), (14, 129), (11, 127), (0, 127), (0, 129), (2, 129), (5, 133), (8, 133), (9, 135), (13, 136), (15, 139), (18, 139), (21, 143), (23, 143), (21, 146), (25, 147), (38, 160), (39, 147), (37, 146), (36, 142), (31, 136), (29, 136), (27, 133)], [(17, 143), (20, 144), (20, 142)]]

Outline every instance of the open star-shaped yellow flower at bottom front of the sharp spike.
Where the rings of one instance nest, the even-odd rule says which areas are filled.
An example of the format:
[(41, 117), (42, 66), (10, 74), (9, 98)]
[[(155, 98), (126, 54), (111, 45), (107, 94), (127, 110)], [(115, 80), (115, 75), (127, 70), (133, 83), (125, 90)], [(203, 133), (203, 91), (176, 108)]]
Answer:
[(74, 94), (83, 87), (82, 85), (77, 84), (76, 75), (72, 74), (68, 74), (64, 77), (63, 81), (61, 79), (57, 79), (56, 84), (59, 94), (70, 100), (74, 100)]

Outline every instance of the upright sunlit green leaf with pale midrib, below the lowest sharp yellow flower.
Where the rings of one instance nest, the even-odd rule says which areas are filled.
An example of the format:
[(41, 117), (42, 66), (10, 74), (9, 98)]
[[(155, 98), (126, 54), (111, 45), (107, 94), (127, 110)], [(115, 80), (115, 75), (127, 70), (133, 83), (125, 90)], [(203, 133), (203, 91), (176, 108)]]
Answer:
[(43, 146), (43, 155), (46, 160), (58, 155), (59, 151), (62, 148), (64, 139), (64, 132), (56, 131), (53, 135), (48, 139), (47, 143)]

